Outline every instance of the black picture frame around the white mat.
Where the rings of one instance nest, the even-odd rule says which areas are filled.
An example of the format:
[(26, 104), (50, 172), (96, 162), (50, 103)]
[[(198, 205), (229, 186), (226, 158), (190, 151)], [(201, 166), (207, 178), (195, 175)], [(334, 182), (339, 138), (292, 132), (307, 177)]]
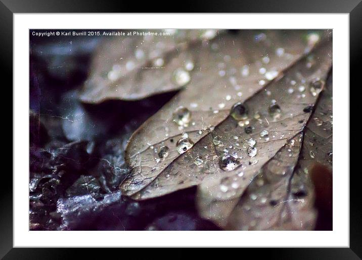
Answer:
[[(169, 2), (170, 3), (170, 2)], [(172, 4), (172, 3), (170, 3)], [(175, 4), (172, 4), (175, 5)], [(160, 6), (166, 3), (97, 1), (97, 0), (0, 0), (0, 35), (2, 38), (0, 58), (3, 75), (13, 83), (13, 15), (16, 13), (125, 13), (160, 12)], [(171, 6), (171, 5), (170, 5)], [(348, 13), (350, 36), (350, 82), (359, 79), (357, 68), (362, 53), (362, 2), (361, 0), (275, 0), (275, 1), (183, 1), (175, 5), (180, 13)], [(171, 10), (171, 9), (170, 9)], [(167, 12), (169, 10), (165, 10)], [(76, 27), (76, 26), (75, 26)], [(360, 85), (360, 81), (359, 84)], [(350, 105), (350, 111), (355, 103)], [(14, 139), (14, 136), (13, 136)], [(15, 154), (13, 156), (16, 156)], [(238, 249), (253, 250), (253, 255), (265, 255), (278, 259), (361, 259), (362, 258), (362, 221), (360, 221), (361, 203), (359, 201), (359, 182), (357, 172), (350, 174), (350, 247), (349, 248), (266, 248)], [(3, 171), (0, 189), (0, 257), (4, 259), (63, 259), (74, 256), (79, 249), (61, 248), (13, 248), (13, 183), (12, 176)], [(287, 239), (287, 238), (286, 238)], [(124, 249), (122, 249), (124, 250)], [(97, 257), (93, 249), (81, 252)], [(210, 251), (209, 251), (210, 252)], [(211, 250), (212, 252), (212, 250)], [(188, 253), (176, 253), (178, 257)], [(123, 256), (124, 257), (124, 256)]]

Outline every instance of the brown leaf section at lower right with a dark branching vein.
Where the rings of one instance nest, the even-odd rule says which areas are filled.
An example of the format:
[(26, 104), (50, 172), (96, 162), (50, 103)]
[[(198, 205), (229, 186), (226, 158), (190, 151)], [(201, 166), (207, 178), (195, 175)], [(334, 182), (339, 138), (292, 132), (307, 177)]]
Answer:
[[(315, 119), (317, 117), (322, 117), (320, 120), (324, 120), (327, 124), (323, 127), (321, 121)], [(323, 169), (325, 166), (318, 166), (323, 164), (332, 166), (329, 158), (332, 151), (331, 119), (332, 76), (329, 77), (318, 106), (303, 131), (304, 140), (300, 154), (301, 134), (292, 139), (293, 147), (289, 142), (262, 167), (238, 204), (232, 209), (226, 229), (314, 229), (316, 218), (311, 180), (316, 187), (316, 206), (323, 209), (320, 210), (320, 214), (328, 213), (330, 208), (327, 205), (332, 201), (332, 176), (327, 178), (329, 174), (325, 173), (326, 170)], [(324, 222), (326, 221), (329, 220), (325, 219)]]

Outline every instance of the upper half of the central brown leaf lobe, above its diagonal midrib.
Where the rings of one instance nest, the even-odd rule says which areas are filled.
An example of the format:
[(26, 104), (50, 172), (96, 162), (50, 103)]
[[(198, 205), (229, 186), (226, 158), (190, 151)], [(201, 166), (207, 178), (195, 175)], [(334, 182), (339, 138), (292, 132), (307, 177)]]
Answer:
[[(245, 101), (262, 89), (268, 79), (272, 79), (268, 78), (267, 72), (275, 72), (274, 77), (281, 76), (283, 69), (310, 48), (302, 40), (301, 35), (306, 35), (303, 31), (296, 34), (290, 31), (271, 32), (267, 36), (255, 32), (245, 34), (237, 38), (240, 41), (220, 38), (215, 56), (211, 61), (201, 63), (203, 66), (210, 64), (210, 70), (214, 69), (215, 73), (205, 77), (202, 69), (200, 77), (193, 77), (185, 91), (175, 96), (132, 135), (126, 151), (126, 161), (132, 168), (132, 174), (121, 186), (126, 194), (132, 195), (148, 185), (179, 156), (176, 144), (183, 135), (187, 134), (192, 143), (198, 142), (228, 116), (236, 102)], [(248, 47), (251, 43), (253, 48)], [(228, 61), (224, 60), (225, 57)], [(306, 65), (301, 67), (305, 69)], [(220, 76), (220, 71), (228, 72), (228, 75)], [(297, 81), (298, 77), (294, 77)], [(297, 93), (296, 90), (295, 95)], [(270, 96), (269, 101), (272, 99)], [(186, 149), (190, 145), (186, 144)], [(164, 146), (169, 148), (167, 157), (159, 158), (157, 153)]]

